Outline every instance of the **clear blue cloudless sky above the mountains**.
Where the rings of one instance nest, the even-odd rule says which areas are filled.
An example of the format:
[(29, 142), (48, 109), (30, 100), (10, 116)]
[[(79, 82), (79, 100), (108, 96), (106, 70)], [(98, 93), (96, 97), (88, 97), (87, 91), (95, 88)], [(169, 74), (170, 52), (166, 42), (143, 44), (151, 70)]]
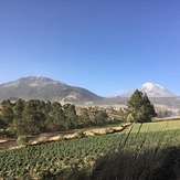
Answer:
[(100, 96), (180, 95), (179, 0), (1, 0), (0, 83), (42, 75)]

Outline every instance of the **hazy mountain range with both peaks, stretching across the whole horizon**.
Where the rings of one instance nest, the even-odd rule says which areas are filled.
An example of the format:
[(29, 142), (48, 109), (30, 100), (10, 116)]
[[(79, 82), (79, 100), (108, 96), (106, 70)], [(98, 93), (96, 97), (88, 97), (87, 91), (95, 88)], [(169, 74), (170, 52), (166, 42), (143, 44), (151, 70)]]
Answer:
[[(139, 91), (147, 93), (150, 100), (157, 107), (180, 109), (180, 97), (158, 84), (146, 83), (139, 87)], [(22, 77), (13, 82), (0, 84), (0, 100), (38, 98), (42, 100), (57, 100), (62, 104), (112, 106), (125, 105), (133, 93), (134, 91), (125, 95), (100, 97), (88, 89), (42, 76)]]

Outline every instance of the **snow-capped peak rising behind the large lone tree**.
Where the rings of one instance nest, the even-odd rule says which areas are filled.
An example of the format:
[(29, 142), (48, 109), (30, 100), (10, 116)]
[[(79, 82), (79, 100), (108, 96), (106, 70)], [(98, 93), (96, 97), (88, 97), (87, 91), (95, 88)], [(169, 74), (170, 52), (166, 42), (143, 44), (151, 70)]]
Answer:
[[(172, 92), (165, 88), (159, 84), (153, 83), (145, 83), (141, 87), (138, 88), (140, 92), (144, 92), (148, 95), (148, 97), (176, 97)], [(134, 91), (123, 95), (124, 97), (130, 97)]]

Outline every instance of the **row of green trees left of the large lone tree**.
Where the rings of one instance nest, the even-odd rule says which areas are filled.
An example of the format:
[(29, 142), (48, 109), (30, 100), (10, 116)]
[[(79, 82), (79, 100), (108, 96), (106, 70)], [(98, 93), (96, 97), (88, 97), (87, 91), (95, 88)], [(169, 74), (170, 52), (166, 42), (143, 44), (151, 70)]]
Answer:
[(0, 103), (0, 129), (12, 135), (28, 135), (42, 131), (68, 130), (88, 126), (115, 123), (105, 109), (97, 107), (77, 108), (73, 104), (40, 99), (18, 99)]

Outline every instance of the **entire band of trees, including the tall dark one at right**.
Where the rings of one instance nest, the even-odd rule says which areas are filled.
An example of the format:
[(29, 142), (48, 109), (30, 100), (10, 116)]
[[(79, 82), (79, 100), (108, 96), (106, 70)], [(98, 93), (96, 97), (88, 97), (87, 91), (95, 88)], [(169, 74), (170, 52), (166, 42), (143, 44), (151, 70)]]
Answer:
[(147, 94), (138, 89), (127, 102), (127, 108), (119, 112), (120, 118), (113, 118), (108, 109), (99, 107), (76, 107), (73, 104), (61, 105), (57, 102), (40, 99), (18, 99), (0, 103), (0, 129), (8, 129), (12, 135), (28, 135), (42, 131), (68, 130), (74, 128), (100, 126), (105, 124), (130, 121), (148, 123), (157, 114)]

